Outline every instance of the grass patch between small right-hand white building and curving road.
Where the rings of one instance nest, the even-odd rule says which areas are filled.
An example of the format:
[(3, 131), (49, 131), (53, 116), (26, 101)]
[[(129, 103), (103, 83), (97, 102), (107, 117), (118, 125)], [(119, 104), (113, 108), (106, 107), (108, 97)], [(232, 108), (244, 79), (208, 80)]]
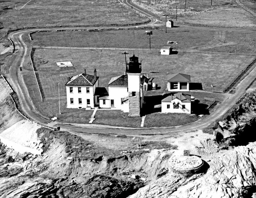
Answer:
[(179, 126), (198, 119), (196, 115), (187, 113), (152, 113), (146, 116), (144, 127)]

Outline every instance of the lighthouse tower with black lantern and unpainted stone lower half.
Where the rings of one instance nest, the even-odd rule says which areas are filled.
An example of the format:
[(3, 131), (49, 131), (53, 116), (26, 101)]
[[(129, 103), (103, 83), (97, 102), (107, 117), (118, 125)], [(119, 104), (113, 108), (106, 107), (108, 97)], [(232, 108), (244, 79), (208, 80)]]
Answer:
[(128, 76), (128, 92), (129, 92), (129, 116), (140, 116), (143, 103), (143, 92), (140, 85), (141, 63), (139, 58), (133, 55), (126, 66)]

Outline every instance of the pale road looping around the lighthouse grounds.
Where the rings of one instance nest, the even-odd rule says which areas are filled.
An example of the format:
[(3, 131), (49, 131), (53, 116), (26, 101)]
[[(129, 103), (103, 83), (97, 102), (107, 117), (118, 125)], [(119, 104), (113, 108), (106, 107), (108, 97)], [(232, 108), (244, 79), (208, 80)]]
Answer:
[[(128, 6), (131, 6), (131, 2), (129, 0), (122, 0), (123, 3), (125, 3)], [(154, 23), (157, 23), (158, 18), (154, 16), (153, 14), (141, 10), (139, 7), (136, 7), (133, 5), (133, 9), (136, 9), (137, 11), (143, 13), (147, 17), (151, 18), (151, 25)], [(149, 24), (148, 24), (149, 25)], [(140, 27), (146, 26), (146, 25), (140, 25)], [(134, 26), (133, 26), (134, 27)], [(117, 27), (117, 28), (127, 28), (127, 27)], [(202, 27), (205, 29), (205, 27)], [(13, 40), (16, 47), (19, 48), (18, 51), (16, 51), (12, 58), (12, 64), (10, 67), (10, 75), (9, 80), (11, 79), (10, 83), (13, 86), (13, 89), (17, 92), (19, 96), (19, 100), (23, 109), (23, 112), (30, 118), (34, 119), (36, 122), (39, 122), (41, 124), (47, 124), (49, 123), (49, 120), (45, 119), (42, 115), (40, 115), (39, 112), (36, 111), (35, 106), (33, 105), (32, 100), (29, 97), (27, 87), (25, 86), (25, 83), (22, 79), (22, 76), (19, 71), (19, 67), (22, 67), (25, 56), (28, 55), (28, 47), (22, 40), (23, 34), (28, 34), (31, 32), (37, 32), (37, 31), (51, 31), (51, 30), (73, 30), (73, 29), (100, 29), (100, 27), (93, 27), (93, 28), (45, 28), (45, 29), (29, 29), (29, 30), (19, 30), (16, 32), (12, 32), (9, 34), (9, 38)], [(113, 29), (113, 27), (104, 29)], [(184, 126), (178, 126), (173, 128), (153, 128), (153, 129), (116, 129), (108, 126), (95, 126), (96, 128), (93, 128), (92, 125), (84, 124), (84, 125), (78, 125), (75, 126), (71, 125), (65, 125), (60, 124), (62, 130), (67, 131), (73, 131), (73, 132), (79, 132), (79, 131), (86, 131), (88, 133), (116, 133), (116, 134), (131, 134), (131, 135), (138, 135), (138, 134), (167, 134), (169, 132), (187, 132), (197, 129), (203, 129), (207, 127), (209, 124), (211, 124), (214, 120), (221, 117), (227, 110), (229, 110), (234, 104), (235, 101), (238, 99), (238, 97), (246, 90), (246, 87), (248, 87), (251, 82), (255, 79), (256, 75), (256, 68), (254, 68), (250, 74), (234, 89), (234, 93), (229, 94), (226, 101), (221, 103), (221, 105), (213, 112), (211, 115), (205, 117), (204, 119), (200, 119), (196, 122), (184, 125)], [(38, 93), (39, 94), (39, 93)]]

